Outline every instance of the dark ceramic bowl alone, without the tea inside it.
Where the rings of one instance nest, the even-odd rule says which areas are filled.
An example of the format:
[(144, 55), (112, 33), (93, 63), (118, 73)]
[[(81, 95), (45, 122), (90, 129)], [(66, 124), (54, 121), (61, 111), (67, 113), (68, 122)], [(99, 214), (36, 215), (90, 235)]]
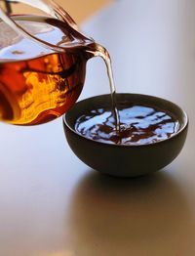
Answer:
[(63, 116), (63, 127), (69, 147), (91, 168), (118, 177), (149, 174), (170, 164), (182, 149), (187, 135), (188, 118), (175, 104), (147, 95), (117, 94), (117, 102), (159, 107), (173, 113), (180, 128), (173, 137), (149, 145), (121, 146), (93, 141), (74, 130), (76, 119), (98, 107), (111, 106), (110, 95), (101, 95), (78, 102)]

